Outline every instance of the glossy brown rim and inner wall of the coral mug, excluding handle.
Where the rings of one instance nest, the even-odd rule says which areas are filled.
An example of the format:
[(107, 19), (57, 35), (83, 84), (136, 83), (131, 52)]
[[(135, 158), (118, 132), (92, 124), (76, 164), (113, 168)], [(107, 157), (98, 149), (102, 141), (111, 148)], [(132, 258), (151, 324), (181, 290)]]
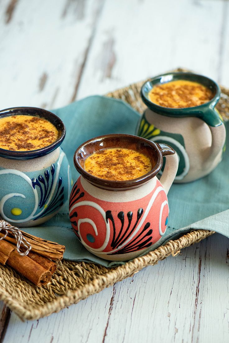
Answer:
[[(108, 148), (127, 148), (146, 155), (152, 169), (145, 175), (132, 180), (106, 180), (89, 174), (84, 169), (85, 159), (95, 152)], [(74, 165), (77, 171), (91, 184), (108, 190), (127, 190), (141, 186), (152, 179), (162, 167), (162, 154), (156, 143), (129, 134), (108, 134), (93, 138), (81, 144), (74, 154)]]

